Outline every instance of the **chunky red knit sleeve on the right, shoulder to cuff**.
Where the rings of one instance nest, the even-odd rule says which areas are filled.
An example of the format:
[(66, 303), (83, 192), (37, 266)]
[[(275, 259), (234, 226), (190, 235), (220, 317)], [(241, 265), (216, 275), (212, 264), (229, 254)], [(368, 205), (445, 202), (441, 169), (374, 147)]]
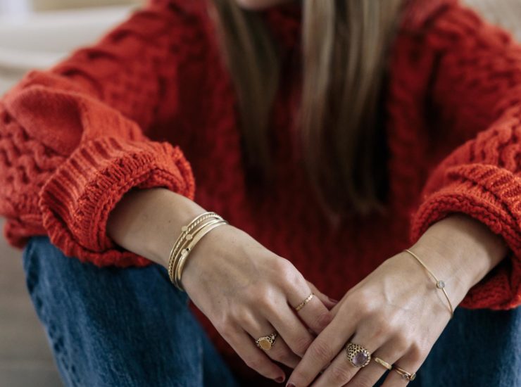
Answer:
[(462, 305), (507, 309), (521, 303), (521, 46), (449, 3), (424, 25), (423, 44), (435, 52), (429, 99), (439, 117), (432, 119), (462, 145), (429, 175), (411, 235), (463, 212), (503, 236), (508, 256)]

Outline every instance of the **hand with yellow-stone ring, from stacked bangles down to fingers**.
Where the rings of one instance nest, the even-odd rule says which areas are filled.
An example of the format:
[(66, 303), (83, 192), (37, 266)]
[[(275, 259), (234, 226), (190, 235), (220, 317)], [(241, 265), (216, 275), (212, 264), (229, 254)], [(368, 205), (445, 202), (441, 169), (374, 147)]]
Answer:
[[(318, 334), (329, 324), (335, 305), (291, 262), (230, 224), (197, 243), (182, 285), (242, 360), (280, 383), (284, 372), (268, 357), (296, 367), (315, 337), (310, 331)], [(315, 297), (296, 312), (294, 306), (311, 292)], [(257, 338), (275, 331), (279, 336), (270, 350), (257, 348)]]

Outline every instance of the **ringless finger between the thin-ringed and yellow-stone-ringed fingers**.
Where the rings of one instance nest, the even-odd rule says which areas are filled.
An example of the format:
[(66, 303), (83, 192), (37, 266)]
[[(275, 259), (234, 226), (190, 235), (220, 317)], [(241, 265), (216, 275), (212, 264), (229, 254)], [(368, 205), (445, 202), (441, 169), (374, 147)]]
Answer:
[[(284, 338), (284, 341), (293, 353), (298, 355), (296, 364), (299, 364), (301, 357), (306, 353), (315, 337), (310, 334), (306, 326), (295, 315), (293, 310), (289, 308), (287, 303), (281, 305), (272, 315), (266, 315), (266, 318), (275, 327), (280, 336)], [(292, 368), (296, 367), (296, 364)]]

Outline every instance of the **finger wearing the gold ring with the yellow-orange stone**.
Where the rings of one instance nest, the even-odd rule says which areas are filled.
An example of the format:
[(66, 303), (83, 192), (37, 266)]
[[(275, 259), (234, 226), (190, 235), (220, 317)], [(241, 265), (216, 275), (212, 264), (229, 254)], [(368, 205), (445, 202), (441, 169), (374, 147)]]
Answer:
[(242, 328), (251, 336), (253, 342), (263, 336), (269, 336), (273, 332), (277, 333), (277, 338), (275, 338), (272, 348), (269, 350), (257, 349), (263, 351), (272, 360), (286, 364), (288, 367), (295, 368), (299, 364), (301, 358), (293, 353), (287, 345), (284, 336), (264, 317), (251, 319), (251, 321), (245, 322)]

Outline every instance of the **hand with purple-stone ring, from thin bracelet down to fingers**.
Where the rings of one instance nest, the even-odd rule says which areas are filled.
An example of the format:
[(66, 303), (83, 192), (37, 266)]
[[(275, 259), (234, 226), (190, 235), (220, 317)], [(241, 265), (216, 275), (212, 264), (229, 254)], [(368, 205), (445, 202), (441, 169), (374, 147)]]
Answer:
[[(334, 307), (334, 319), (315, 338), (289, 382), (308, 386), (325, 369), (313, 386), (373, 386), (386, 371), (374, 357), (416, 372), (451, 318), (447, 300), (428, 275), (408, 253), (385, 261)], [(367, 366), (351, 364), (348, 342), (372, 354)], [(384, 386), (406, 384), (391, 372)]]

